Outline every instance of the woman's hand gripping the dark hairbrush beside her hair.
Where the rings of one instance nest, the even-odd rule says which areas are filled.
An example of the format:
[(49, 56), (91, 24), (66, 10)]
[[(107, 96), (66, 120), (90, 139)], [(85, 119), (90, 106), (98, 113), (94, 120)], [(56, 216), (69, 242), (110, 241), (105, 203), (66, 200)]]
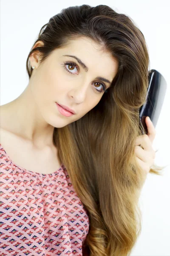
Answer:
[[(148, 174), (150, 172), (151, 166), (154, 164), (155, 151), (152, 148), (152, 143), (156, 135), (156, 130), (153, 126), (153, 122), (150, 120), (149, 116), (145, 119), (147, 125), (147, 134), (141, 135), (136, 139), (135, 154), (136, 160), (139, 166)], [(140, 147), (142, 146), (142, 148)]]

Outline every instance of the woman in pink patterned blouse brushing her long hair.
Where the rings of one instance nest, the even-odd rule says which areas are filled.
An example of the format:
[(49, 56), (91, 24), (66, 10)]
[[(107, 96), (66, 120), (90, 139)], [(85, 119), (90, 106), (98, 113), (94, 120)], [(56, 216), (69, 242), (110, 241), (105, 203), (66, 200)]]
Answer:
[(28, 86), (1, 106), (0, 255), (130, 253), (147, 173), (163, 169), (152, 122), (139, 128), (148, 66), (142, 32), (108, 6), (69, 7), (42, 26)]

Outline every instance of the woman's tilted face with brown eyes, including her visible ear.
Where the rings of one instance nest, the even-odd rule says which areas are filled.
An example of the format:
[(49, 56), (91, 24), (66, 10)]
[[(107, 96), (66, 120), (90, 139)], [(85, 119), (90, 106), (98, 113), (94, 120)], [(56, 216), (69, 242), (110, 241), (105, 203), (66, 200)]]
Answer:
[[(31, 66), (35, 66), (30, 82), (36, 105), (44, 119), (58, 128), (78, 120), (94, 108), (110, 86), (97, 77), (111, 82), (118, 70), (112, 55), (99, 51), (98, 45), (88, 38), (76, 39), (67, 47), (54, 50), (40, 66), (33, 55), (30, 61)], [(62, 115), (56, 102), (71, 108), (75, 114)]]

